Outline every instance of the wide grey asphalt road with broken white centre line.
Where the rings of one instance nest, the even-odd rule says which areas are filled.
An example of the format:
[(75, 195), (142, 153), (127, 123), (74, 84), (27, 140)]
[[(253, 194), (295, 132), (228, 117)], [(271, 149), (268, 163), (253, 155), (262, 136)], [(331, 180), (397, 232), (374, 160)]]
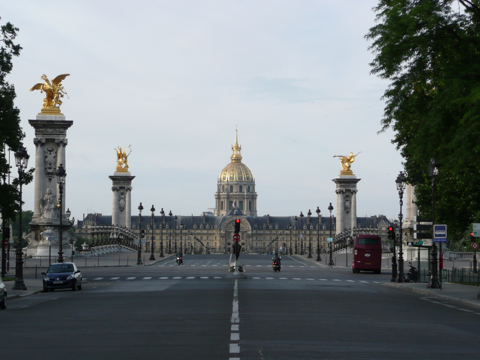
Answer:
[(82, 269), (83, 290), (11, 300), (0, 311), (1, 357), (478, 358), (476, 308), (380, 285), (388, 274), (287, 256), (275, 273), (271, 255), (241, 255), (249, 278), (236, 281), (226, 278), (228, 258)]

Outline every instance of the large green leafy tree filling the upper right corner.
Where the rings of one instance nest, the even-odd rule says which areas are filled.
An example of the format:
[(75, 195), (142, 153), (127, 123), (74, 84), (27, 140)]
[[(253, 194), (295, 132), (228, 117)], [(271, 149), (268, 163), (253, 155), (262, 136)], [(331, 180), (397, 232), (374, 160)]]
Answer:
[(393, 128), (426, 217), (428, 162), (440, 162), (435, 222), (446, 223), (456, 240), (480, 214), (479, 2), (381, 0), (365, 36), (373, 41), (371, 73), (391, 81), (381, 131)]

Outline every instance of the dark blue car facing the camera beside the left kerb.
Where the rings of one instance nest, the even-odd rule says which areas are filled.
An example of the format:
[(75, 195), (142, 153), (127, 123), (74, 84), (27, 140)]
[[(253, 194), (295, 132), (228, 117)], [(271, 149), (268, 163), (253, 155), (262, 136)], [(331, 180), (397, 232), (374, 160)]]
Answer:
[(43, 291), (71, 288), (82, 290), (82, 274), (73, 263), (51, 264), (43, 278)]

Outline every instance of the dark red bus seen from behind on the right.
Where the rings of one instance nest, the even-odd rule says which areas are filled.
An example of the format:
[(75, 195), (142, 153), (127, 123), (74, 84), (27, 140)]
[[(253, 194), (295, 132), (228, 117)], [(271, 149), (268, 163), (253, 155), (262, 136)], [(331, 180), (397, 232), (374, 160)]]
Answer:
[(382, 269), (382, 239), (378, 235), (360, 234), (353, 245), (352, 271), (373, 271), (380, 274)]

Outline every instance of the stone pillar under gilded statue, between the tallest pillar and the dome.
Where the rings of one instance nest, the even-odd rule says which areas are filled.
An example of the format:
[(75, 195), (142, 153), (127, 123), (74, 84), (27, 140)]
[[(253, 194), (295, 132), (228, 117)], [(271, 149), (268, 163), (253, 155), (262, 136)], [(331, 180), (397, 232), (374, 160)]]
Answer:
[(132, 219), (132, 180), (129, 171), (115, 171), (108, 177), (112, 180), (112, 225), (131, 228)]

